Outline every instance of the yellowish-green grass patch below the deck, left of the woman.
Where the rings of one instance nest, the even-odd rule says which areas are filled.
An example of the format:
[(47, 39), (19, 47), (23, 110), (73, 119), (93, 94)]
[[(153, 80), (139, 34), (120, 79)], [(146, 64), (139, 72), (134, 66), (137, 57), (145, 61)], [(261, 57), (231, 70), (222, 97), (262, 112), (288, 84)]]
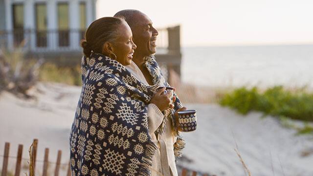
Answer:
[(78, 65), (69, 67), (45, 63), (40, 68), (39, 80), (81, 86), (81, 68)]

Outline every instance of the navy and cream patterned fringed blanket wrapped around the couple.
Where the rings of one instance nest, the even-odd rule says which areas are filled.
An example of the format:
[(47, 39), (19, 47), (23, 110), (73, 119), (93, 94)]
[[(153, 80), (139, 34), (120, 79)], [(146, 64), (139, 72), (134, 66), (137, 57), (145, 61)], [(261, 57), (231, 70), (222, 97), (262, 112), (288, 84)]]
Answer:
[[(83, 87), (70, 133), (72, 176), (150, 176), (157, 146), (148, 133), (147, 105), (156, 88), (168, 85), (154, 56), (146, 66), (154, 86), (102, 54), (83, 57)], [(177, 98), (175, 109), (180, 107)]]

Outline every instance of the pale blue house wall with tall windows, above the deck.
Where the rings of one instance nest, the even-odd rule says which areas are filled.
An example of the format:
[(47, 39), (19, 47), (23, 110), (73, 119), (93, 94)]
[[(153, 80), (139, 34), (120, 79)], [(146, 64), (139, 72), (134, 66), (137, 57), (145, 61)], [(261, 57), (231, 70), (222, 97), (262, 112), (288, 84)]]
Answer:
[(45, 56), (81, 51), (96, 0), (0, 0), (0, 44)]

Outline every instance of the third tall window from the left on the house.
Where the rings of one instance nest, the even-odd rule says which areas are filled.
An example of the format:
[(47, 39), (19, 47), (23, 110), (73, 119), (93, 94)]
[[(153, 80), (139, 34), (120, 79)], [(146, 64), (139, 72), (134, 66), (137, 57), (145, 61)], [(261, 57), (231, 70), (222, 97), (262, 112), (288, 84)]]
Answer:
[(59, 46), (69, 46), (68, 4), (58, 4)]

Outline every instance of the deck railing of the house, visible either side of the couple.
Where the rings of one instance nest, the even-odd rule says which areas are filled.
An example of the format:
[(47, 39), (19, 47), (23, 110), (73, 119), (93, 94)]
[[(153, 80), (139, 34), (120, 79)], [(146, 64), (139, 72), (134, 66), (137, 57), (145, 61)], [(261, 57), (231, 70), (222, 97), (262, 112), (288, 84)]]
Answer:
[[(156, 40), (157, 48), (160, 51), (180, 50), (179, 26), (158, 28)], [(41, 53), (46, 52), (79, 52), (82, 53), (80, 41), (85, 38), (85, 30), (36, 30), (19, 29), (0, 31), (0, 47), (7, 50), (20, 48), (25, 52)]]

